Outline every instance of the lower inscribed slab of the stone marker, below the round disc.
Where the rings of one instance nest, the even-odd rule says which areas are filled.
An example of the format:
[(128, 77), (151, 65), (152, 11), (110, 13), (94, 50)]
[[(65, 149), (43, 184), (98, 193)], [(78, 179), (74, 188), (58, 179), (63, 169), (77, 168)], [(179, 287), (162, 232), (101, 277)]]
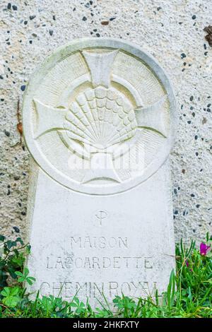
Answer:
[[(115, 295), (154, 295), (166, 289), (175, 268), (169, 167), (141, 186), (114, 196), (85, 196), (37, 177), (31, 202), (32, 255), (28, 261), (41, 295), (77, 294), (105, 303)], [(63, 208), (61, 208), (63, 207)]]

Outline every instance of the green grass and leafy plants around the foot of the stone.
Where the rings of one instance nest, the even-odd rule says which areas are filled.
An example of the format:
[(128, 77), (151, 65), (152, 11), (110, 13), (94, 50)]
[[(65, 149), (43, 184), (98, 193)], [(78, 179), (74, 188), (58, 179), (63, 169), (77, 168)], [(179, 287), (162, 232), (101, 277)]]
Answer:
[[(114, 307), (100, 303), (98, 308), (91, 308), (89, 299), (86, 303), (73, 297), (71, 302), (59, 297), (39, 297), (29, 300), (23, 283), (33, 283), (27, 268), (25, 257), (30, 246), (21, 239), (16, 242), (6, 241), (0, 235), (4, 254), (0, 259), (0, 317), (33, 318), (211, 318), (212, 317), (212, 238), (206, 236), (206, 244), (201, 250), (192, 241), (189, 247), (182, 242), (176, 246), (176, 275), (172, 271), (167, 292), (155, 299), (148, 297), (129, 298), (124, 295), (115, 297)], [(20, 244), (20, 246), (19, 246)], [(203, 245), (203, 244), (202, 244)], [(14, 286), (8, 285), (8, 275), (16, 280)]]

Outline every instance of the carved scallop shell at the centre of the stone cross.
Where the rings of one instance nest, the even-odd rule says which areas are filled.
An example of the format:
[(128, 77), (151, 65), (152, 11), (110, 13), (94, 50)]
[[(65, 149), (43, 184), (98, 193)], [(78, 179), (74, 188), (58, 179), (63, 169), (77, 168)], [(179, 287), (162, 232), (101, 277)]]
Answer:
[(114, 88), (88, 88), (71, 102), (66, 114), (69, 138), (98, 149), (133, 137), (136, 117), (129, 100)]

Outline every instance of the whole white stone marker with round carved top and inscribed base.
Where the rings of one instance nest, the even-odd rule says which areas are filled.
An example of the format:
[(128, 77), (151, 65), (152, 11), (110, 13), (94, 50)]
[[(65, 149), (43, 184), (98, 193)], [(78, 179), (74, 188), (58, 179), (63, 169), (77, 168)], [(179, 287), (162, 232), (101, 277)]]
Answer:
[(90, 303), (166, 290), (175, 268), (167, 157), (175, 97), (136, 45), (76, 40), (47, 58), (23, 103), (32, 161), (30, 291)]

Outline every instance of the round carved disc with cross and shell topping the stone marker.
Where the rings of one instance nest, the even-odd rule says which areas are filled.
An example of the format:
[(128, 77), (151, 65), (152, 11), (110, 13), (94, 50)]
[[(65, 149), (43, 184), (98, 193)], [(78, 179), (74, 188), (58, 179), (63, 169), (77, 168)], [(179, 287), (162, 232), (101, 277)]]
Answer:
[(31, 155), (60, 184), (116, 194), (163, 165), (175, 138), (175, 97), (163, 69), (136, 45), (76, 40), (36, 71), (23, 102)]

